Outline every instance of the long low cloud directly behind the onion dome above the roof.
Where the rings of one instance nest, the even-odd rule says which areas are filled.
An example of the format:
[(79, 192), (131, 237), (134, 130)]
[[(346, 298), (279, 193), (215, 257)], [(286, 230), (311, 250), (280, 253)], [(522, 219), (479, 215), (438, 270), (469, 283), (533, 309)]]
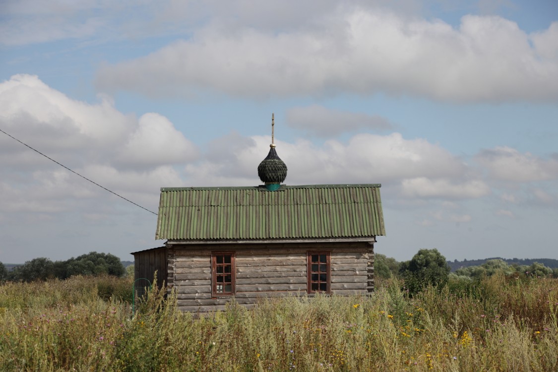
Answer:
[[(215, 141), (220, 143), (230, 146), (210, 146), (204, 162), (186, 167), (188, 182), (198, 186), (259, 184), (257, 166), (267, 154), (269, 138), (242, 139), (232, 133)], [(424, 139), (408, 140), (399, 133), (357, 134), (347, 143), (332, 140), (323, 147), (306, 140), (277, 142), (277, 153), (287, 165), (288, 185), (383, 183), (392, 195), (398, 190), (398, 197), (411, 199), (471, 199), (490, 192), (459, 158)], [(455, 208), (451, 202), (448, 206)]]

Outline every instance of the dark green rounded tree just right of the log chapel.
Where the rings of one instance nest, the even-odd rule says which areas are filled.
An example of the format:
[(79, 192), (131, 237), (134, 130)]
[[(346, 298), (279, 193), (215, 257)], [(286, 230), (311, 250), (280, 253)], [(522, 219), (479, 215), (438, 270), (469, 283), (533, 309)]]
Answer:
[(446, 258), (434, 249), (421, 249), (410, 261), (402, 262), (400, 272), (411, 293), (426, 286), (442, 287), (448, 282), (450, 267)]

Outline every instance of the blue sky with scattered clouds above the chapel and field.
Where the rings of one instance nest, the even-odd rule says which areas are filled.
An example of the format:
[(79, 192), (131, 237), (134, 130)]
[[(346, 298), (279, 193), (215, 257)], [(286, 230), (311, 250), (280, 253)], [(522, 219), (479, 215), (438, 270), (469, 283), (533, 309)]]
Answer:
[(555, 0), (5, 0), (0, 262), (159, 247), (272, 113), (287, 185), (382, 184), (377, 253), (558, 259)]

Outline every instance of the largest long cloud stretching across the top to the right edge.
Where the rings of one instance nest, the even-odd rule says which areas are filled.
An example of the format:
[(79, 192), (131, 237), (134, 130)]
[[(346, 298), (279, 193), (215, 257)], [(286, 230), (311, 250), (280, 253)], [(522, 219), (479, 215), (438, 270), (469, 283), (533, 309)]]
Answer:
[(363, 7), (321, 17), (280, 32), (211, 22), (189, 40), (105, 65), (97, 83), (154, 96), (201, 89), (251, 98), (334, 91), (456, 102), (558, 97), (556, 42), (546, 36), (554, 25), (531, 36), (497, 16), (464, 16), (459, 28)]

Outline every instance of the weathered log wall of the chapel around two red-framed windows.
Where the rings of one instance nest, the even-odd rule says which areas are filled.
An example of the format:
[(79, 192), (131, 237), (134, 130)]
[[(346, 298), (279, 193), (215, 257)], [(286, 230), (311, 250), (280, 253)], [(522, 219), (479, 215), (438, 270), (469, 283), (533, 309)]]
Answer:
[[(252, 307), (259, 297), (306, 294), (306, 252), (331, 252), (331, 293), (367, 294), (372, 245), (364, 243), (184, 245), (169, 250), (169, 283), (182, 311), (224, 310), (227, 298), (211, 298), (211, 252), (236, 252), (236, 301)], [(172, 262), (171, 262), (172, 260)], [(372, 252), (373, 263), (373, 252)]]

